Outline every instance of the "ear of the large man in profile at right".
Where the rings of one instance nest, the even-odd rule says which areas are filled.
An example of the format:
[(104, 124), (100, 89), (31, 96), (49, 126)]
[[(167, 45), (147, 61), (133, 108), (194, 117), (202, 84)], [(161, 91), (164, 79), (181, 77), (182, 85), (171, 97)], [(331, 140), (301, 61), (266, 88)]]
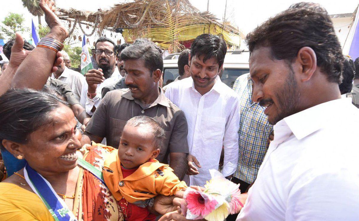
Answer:
[(300, 80), (305, 82), (311, 79), (317, 70), (317, 55), (311, 47), (302, 47), (297, 54), (295, 61), (300, 68)]

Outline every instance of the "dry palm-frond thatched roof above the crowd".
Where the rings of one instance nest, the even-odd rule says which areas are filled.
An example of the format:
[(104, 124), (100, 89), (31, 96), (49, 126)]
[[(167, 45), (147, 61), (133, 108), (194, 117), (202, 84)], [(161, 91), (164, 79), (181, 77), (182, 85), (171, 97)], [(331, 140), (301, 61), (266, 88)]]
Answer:
[[(99, 33), (103, 29), (129, 29), (127, 33), (132, 38), (149, 37), (154, 40), (157, 37), (157, 41), (160, 39), (164, 44), (169, 44), (170, 51), (183, 49), (180, 41), (196, 37), (190, 34), (190, 30), (193, 32), (194, 28), (203, 29), (203, 32), (208, 30), (206, 33), (225, 32), (223, 34), (227, 36), (227, 40), (231, 35), (237, 36), (236, 38), (244, 37), (238, 29), (218, 22), (209, 11), (200, 12), (189, 0), (134, 0), (95, 12), (75, 9), (58, 11), (60, 19), (96, 27)], [(80, 28), (84, 32), (81, 26)]]

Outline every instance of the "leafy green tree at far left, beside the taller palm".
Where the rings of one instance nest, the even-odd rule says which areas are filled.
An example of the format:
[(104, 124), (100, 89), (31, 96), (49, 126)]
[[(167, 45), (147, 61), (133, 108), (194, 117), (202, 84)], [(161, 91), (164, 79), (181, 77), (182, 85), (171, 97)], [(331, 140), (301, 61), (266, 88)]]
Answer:
[(13, 38), (16, 32), (28, 32), (30, 29), (24, 26), (23, 15), (10, 12), (3, 20), (0, 31), (3, 35)]

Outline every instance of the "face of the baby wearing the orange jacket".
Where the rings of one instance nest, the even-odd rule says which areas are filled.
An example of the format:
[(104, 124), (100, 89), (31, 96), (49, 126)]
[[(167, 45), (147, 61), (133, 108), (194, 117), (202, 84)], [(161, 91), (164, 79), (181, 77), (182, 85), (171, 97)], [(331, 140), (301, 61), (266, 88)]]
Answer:
[(159, 149), (154, 149), (154, 136), (146, 125), (125, 125), (122, 131), (118, 158), (126, 169), (138, 167), (154, 159)]

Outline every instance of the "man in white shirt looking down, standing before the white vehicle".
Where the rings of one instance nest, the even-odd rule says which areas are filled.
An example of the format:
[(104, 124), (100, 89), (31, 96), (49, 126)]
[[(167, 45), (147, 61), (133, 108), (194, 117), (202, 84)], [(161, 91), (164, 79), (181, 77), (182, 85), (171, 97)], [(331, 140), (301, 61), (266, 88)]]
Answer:
[(232, 176), (237, 169), (239, 99), (218, 76), (226, 51), (222, 38), (212, 34), (198, 36), (188, 59), (191, 78), (173, 82), (165, 92), (188, 122), (190, 185), (203, 186), (211, 178), (209, 169), (218, 170), (222, 146), (223, 175)]

